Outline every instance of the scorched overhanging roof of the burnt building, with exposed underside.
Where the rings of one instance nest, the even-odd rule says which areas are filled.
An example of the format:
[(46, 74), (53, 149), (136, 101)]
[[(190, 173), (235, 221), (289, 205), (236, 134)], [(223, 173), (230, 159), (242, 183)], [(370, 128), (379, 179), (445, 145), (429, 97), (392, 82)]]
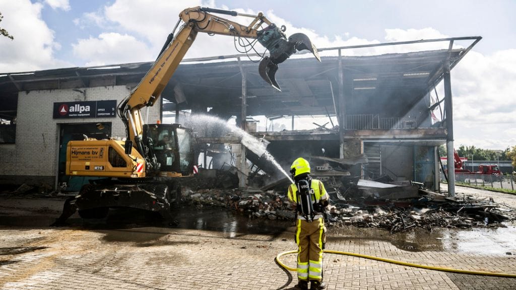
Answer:
[[(450, 45), (449, 49), (444, 50), (342, 58), (328, 56), (322, 57), (321, 63), (314, 58), (291, 58), (281, 63), (276, 73), (281, 92), (260, 77), (256, 62), (241, 61), (247, 80), (247, 115), (265, 115), (269, 118), (334, 115), (338, 110), (341, 59), (342, 92), (346, 100), (351, 100), (345, 106), (348, 114), (381, 115), (384, 111), (399, 111), (399, 115), (403, 115), (440, 82), (448, 61), (449, 68), (453, 68), (480, 39), (467, 37), (405, 42), (448, 41)], [(451, 49), (454, 40), (472, 40), (473, 43)], [(319, 51), (345, 52), (348, 48), (381, 45), (389, 43)], [(6, 112), (12, 111), (15, 114), (19, 91), (114, 85), (133, 88), (152, 63), (0, 74), (0, 98), (3, 103), (0, 114), (5, 116), (8, 114)], [(238, 61), (188, 63), (185, 60), (172, 76), (162, 97), (179, 103), (180, 109), (212, 107), (214, 112), (221, 115), (239, 116), (241, 95), (242, 76)], [(368, 105), (371, 102), (376, 106)], [(171, 109), (173, 106), (165, 107), (165, 110)]]

